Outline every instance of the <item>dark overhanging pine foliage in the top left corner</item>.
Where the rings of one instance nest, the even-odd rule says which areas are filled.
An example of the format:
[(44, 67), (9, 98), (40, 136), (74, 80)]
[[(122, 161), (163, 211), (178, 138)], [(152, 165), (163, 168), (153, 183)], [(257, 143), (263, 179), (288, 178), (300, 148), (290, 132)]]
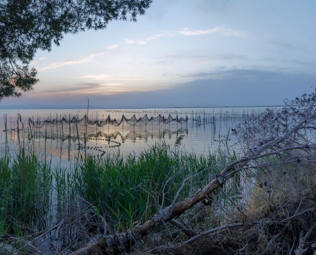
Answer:
[(29, 64), (67, 33), (103, 29), (112, 20), (136, 21), (152, 0), (0, 0), (0, 99), (36, 84)]

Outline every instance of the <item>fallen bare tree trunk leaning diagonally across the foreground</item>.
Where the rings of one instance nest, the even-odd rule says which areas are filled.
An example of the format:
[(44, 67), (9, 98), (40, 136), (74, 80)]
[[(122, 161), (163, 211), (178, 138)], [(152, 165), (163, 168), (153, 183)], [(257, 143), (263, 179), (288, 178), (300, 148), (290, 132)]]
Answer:
[[(279, 129), (276, 129), (277, 135), (271, 135), (268, 139), (259, 142), (256, 141), (250, 145), (248, 143), (248, 150), (245, 152), (245, 156), (243, 158), (240, 158), (239, 160), (225, 167), (225, 169), (223, 169), (223, 171), (221, 171), (219, 175), (215, 176), (215, 178), (212, 181), (210, 181), (207, 185), (202, 187), (192, 196), (177, 203), (175, 202), (176, 199), (174, 199), (174, 202), (170, 206), (160, 210), (154, 216), (147, 219), (138, 226), (134, 227), (130, 231), (125, 233), (117, 233), (114, 235), (104, 236), (98, 242), (93, 243), (92, 245), (89, 245), (87, 247), (83, 247), (71, 254), (119, 254), (123, 250), (130, 250), (132, 245), (138, 239), (142, 238), (143, 236), (146, 236), (153, 229), (165, 224), (165, 222), (168, 222), (172, 219), (179, 217), (186, 210), (192, 208), (196, 203), (202, 201), (208, 194), (223, 186), (223, 184), (227, 180), (232, 178), (232, 176), (237, 172), (246, 168), (251, 162), (258, 160), (260, 158), (269, 157), (273, 155), (281, 156), (282, 154), (287, 154), (291, 150), (314, 150), (316, 148), (316, 144), (313, 143), (313, 140), (309, 141), (308, 139), (305, 139), (302, 141), (298, 141), (296, 139), (295, 142), (292, 142), (294, 141), (293, 137), (297, 137), (297, 134), (301, 130), (304, 130), (305, 132), (306, 129), (316, 129), (316, 126), (311, 125), (311, 123), (313, 123), (313, 121), (316, 119), (315, 96), (313, 96), (309, 101), (307, 101), (306, 105), (307, 107), (304, 109), (303, 114), (298, 115), (298, 117), (295, 116), (296, 109), (293, 107), (294, 114), (289, 116), (292, 118), (296, 118), (296, 122), (294, 123), (292, 121), (292, 126), (288, 126), (288, 124), (286, 123), (286, 127), (283, 131), (279, 131)], [(279, 120), (278, 118), (274, 117), (273, 121)], [(291, 123), (289, 123), (289, 125), (290, 124)], [(267, 132), (266, 129), (262, 130), (262, 132)], [(291, 143), (287, 143), (288, 145), (285, 145), (288, 141), (291, 141)], [(304, 241), (303, 239), (305, 238), (305, 236), (303, 236), (303, 234), (301, 236), (302, 243)], [(304, 251), (303, 245), (300, 245), (300, 248), (298, 248), (295, 251), (295, 253), (301, 254), (302, 251)]]

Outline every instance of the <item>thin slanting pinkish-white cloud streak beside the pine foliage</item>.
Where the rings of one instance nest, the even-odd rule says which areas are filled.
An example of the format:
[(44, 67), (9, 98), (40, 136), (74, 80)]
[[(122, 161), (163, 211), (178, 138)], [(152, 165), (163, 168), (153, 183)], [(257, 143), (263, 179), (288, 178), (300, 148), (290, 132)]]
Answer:
[(106, 53), (108, 50), (112, 50), (119, 47), (118, 44), (114, 44), (114, 45), (110, 45), (107, 47), (104, 47), (101, 50), (98, 50), (97, 52), (92, 52), (82, 58), (79, 59), (74, 59), (74, 60), (67, 60), (67, 61), (59, 61), (59, 62), (54, 62), (49, 64), (48, 66), (45, 67), (40, 67), (37, 68), (38, 71), (44, 71), (44, 70), (51, 70), (51, 69), (56, 69), (62, 66), (69, 66), (69, 65), (76, 65), (76, 64), (82, 64), (82, 63), (86, 63), (89, 61), (92, 61), (94, 57), (102, 55), (104, 53)]

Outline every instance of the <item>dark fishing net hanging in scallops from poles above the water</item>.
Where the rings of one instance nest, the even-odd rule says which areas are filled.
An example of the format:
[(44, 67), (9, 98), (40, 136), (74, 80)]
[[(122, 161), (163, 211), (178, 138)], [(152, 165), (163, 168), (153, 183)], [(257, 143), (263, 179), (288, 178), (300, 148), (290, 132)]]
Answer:
[(61, 119), (46, 119), (44, 121), (41, 121), (39, 119), (37, 119), (36, 121), (34, 121), (33, 119), (29, 118), (28, 122), (30, 125), (34, 126), (35, 128), (41, 128), (43, 127), (45, 124), (50, 124), (50, 125), (56, 125), (59, 123), (64, 123), (64, 124), (87, 124), (87, 125), (97, 125), (98, 127), (103, 127), (104, 125), (114, 125), (114, 126), (120, 126), (123, 123), (126, 123), (130, 126), (134, 126), (136, 124), (148, 124), (149, 122), (155, 122), (157, 124), (163, 123), (163, 124), (169, 124), (171, 122), (177, 122), (180, 124), (186, 123), (188, 121), (188, 117), (186, 116), (186, 118), (179, 118), (178, 115), (176, 116), (176, 118), (172, 118), (171, 114), (169, 114), (168, 118), (166, 118), (165, 116), (161, 116), (158, 115), (157, 117), (150, 117), (148, 118), (147, 114), (145, 114), (144, 117), (139, 117), (137, 118), (135, 116), (135, 114), (130, 118), (127, 119), (124, 115), (122, 116), (121, 120), (117, 120), (117, 119), (111, 119), (110, 115), (108, 116), (108, 118), (106, 120), (91, 120), (89, 118), (87, 118), (86, 115), (84, 115), (81, 119), (77, 119), (76, 117), (73, 117), (72, 119), (69, 118), (67, 119), (66, 117), (63, 117)]

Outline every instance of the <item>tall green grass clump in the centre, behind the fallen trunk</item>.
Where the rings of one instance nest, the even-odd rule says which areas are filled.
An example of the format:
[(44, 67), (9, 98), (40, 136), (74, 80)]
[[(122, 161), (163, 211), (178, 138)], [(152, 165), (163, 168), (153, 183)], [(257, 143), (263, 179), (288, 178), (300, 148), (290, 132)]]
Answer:
[(153, 215), (170, 205), (183, 180), (178, 199), (185, 198), (218, 172), (214, 155), (208, 157), (155, 144), (138, 157), (97, 159), (88, 157), (74, 172), (74, 190), (91, 203), (115, 231)]

